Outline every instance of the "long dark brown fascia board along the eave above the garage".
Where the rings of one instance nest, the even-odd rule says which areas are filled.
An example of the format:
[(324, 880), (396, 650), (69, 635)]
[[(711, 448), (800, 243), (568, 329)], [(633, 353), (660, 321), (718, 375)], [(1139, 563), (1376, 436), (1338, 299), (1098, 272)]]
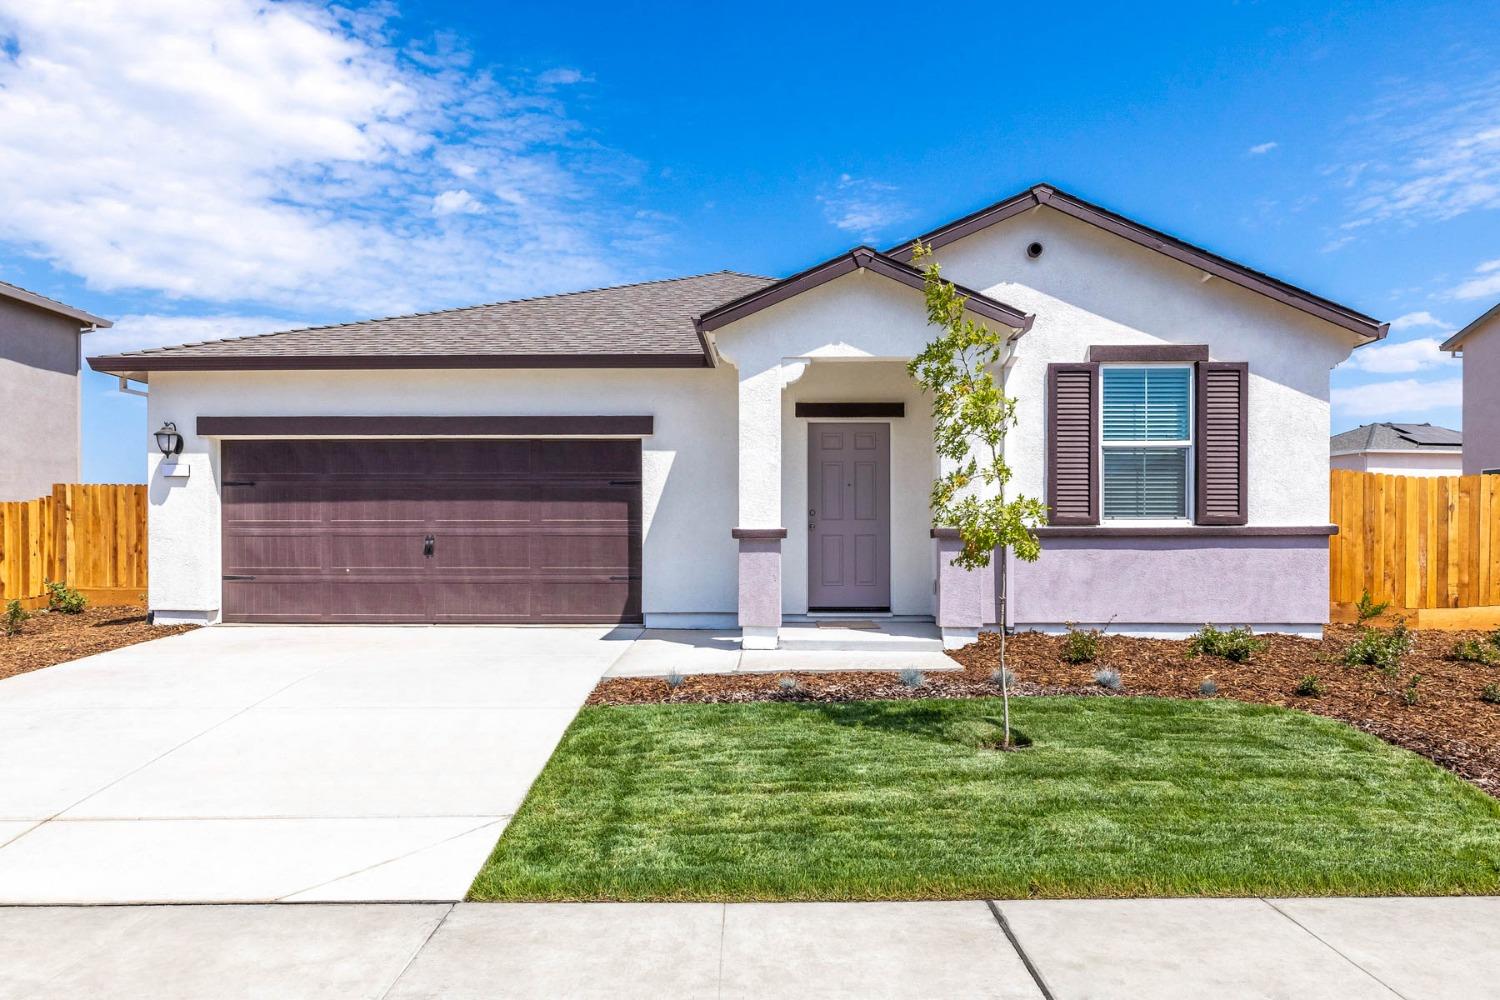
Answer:
[(106, 375), (142, 372), (362, 372), (386, 369), (573, 369), (710, 367), (702, 354), (303, 354), (248, 355), (100, 355), (88, 366)]

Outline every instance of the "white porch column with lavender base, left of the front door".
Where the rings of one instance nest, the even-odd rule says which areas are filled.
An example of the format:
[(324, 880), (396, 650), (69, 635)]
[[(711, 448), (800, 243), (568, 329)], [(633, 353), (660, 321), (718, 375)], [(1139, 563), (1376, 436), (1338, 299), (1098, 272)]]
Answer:
[(776, 361), (740, 375), (740, 525), (732, 534), (742, 649), (776, 649), (782, 630), (782, 387), (804, 369)]

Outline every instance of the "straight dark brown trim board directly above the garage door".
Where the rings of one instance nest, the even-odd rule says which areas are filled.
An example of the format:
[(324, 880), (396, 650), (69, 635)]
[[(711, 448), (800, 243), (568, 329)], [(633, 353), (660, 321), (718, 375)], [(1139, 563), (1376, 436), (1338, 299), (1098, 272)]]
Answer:
[(204, 438), (642, 438), (630, 417), (200, 417)]

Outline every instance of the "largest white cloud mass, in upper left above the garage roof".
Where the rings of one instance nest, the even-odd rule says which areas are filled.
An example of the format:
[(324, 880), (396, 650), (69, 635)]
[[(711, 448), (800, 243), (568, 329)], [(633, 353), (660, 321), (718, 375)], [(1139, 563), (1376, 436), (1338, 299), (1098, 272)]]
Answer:
[(591, 186), (636, 166), (384, 10), (0, 0), (0, 241), (102, 291), (366, 315), (621, 277)]

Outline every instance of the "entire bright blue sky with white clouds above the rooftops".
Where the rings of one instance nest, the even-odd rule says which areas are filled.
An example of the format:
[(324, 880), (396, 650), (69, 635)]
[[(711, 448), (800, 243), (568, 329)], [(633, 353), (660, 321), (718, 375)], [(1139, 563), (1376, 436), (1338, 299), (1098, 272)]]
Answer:
[[(0, 0), (0, 277), (98, 354), (735, 268), (1046, 180), (1395, 321), (1334, 429), (1458, 426), (1500, 4)], [(86, 378), (84, 478), (141, 400)]]

